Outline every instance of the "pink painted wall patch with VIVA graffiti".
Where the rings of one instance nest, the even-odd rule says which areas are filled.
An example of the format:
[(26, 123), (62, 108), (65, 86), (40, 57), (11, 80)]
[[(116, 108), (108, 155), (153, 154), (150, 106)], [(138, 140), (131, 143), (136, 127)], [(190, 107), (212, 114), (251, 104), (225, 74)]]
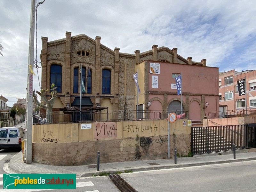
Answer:
[(95, 124), (94, 138), (105, 139), (105, 138), (116, 138), (116, 122), (99, 122)]

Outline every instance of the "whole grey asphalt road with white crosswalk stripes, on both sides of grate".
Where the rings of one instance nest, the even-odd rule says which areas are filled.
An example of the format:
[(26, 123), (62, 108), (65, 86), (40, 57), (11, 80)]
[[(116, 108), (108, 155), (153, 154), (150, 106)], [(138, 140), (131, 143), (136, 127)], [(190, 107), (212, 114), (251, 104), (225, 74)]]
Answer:
[[(17, 151), (0, 150), (0, 192), (3, 189), (2, 168)], [(4, 169), (5, 169), (4, 168)], [(204, 165), (120, 175), (139, 192), (220, 192), (256, 191), (256, 160), (228, 164)], [(87, 177), (76, 180), (76, 189), (8, 189), (8, 191), (51, 192), (118, 192), (109, 177)]]

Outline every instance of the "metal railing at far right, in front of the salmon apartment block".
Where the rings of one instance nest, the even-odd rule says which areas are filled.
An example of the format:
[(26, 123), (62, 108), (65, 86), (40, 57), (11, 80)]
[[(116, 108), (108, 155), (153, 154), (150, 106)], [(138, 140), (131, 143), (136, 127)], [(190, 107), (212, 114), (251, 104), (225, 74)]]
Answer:
[(245, 117), (245, 116), (256, 116), (255, 109), (243, 109), (243, 110), (229, 110), (229, 111), (219, 111), (219, 112), (211, 112), (206, 114), (207, 119), (213, 118), (230, 118), (230, 117)]

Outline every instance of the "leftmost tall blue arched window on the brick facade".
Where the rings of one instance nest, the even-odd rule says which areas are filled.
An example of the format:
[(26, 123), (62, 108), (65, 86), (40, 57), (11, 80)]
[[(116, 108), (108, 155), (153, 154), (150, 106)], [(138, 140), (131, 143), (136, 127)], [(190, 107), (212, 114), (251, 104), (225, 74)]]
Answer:
[(61, 93), (61, 76), (62, 67), (60, 65), (51, 65), (50, 86), (54, 83), (58, 93)]

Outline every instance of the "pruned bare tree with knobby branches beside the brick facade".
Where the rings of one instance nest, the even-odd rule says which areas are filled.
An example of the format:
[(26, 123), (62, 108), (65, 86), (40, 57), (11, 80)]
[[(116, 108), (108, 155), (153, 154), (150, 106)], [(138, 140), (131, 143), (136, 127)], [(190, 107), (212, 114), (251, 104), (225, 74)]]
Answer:
[(55, 88), (55, 85), (54, 83), (51, 84), (51, 95), (52, 95), (52, 98), (50, 100), (46, 99), (46, 91), (47, 90), (44, 90), (41, 88), (41, 91), (36, 91), (36, 93), (38, 95), (40, 95), (41, 97), (41, 100), (43, 100), (43, 103), (39, 102), (37, 100), (37, 94), (35, 94), (35, 90), (33, 91), (33, 98), (34, 98), (34, 102), (35, 104), (38, 106), (38, 107), (42, 107), (46, 110), (46, 121), (47, 123), (52, 123), (52, 107), (53, 107), (53, 104), (54, 104), (54, 101), (58, 98), (58, 92), (56, 91), (56, 88)]

